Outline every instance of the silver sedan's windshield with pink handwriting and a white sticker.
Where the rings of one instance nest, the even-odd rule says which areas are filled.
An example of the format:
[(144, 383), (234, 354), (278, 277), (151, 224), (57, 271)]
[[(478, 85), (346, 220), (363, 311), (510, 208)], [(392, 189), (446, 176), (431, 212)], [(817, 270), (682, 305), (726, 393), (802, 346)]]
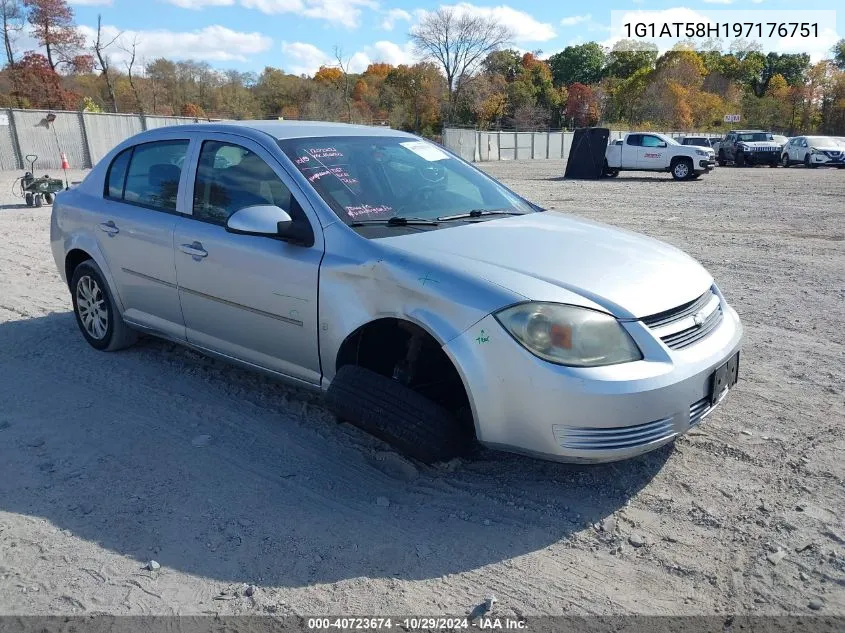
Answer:
[(534, 207), (434, 143), (406, 137), (337, 136), (279, 141), (337, 216), (352, 224), (435, 219)]

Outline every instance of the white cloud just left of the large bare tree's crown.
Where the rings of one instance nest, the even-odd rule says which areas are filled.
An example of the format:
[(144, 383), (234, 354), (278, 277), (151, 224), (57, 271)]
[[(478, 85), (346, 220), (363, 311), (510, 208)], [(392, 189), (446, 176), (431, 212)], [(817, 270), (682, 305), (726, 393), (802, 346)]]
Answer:
[[(337, 66), (337, 60), (333, 55), (307, 42), (282, 42), (282, 53), (287, 60), (283, 64), (284, 69), (294, 75), (313, 75), (320, 66)], [(347, 56), (344, 55), (344, 64), (346, 61)], [(356, 51), (348, 56), (348, 61), (349, 72), (361, 73), (367, 69), (367, 66), (377, 62), (398, 66), (413, 64), (417, 60), (410, 42), (400, 46), (394, 42), (382, 40)]]

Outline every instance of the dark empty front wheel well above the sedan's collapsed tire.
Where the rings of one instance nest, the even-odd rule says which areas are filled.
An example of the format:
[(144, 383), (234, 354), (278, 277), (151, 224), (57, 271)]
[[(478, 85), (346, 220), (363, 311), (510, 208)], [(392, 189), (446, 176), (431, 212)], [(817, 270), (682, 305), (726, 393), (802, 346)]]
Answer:
[(344, 365), (398, 380), (471, 424), (469, 397), (457, 368), (437, 339), (415, 323), (385, 318), (359, 327), (338, 351), (335, 370)]

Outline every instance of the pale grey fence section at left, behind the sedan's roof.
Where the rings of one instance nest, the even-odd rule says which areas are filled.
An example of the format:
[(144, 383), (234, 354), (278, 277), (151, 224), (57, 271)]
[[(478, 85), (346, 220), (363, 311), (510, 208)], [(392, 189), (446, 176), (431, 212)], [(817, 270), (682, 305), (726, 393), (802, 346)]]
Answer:
[[(51, 113), (55, 119), (48, 123)], [(38, 157), (36, 175), (60, 169), (62, 153), (72, 169), (87, 169), (138, 132), (195, 121), (189, 117), (5, 108), (0, 110), (0, 170), (29, 169), (28, 155)]]

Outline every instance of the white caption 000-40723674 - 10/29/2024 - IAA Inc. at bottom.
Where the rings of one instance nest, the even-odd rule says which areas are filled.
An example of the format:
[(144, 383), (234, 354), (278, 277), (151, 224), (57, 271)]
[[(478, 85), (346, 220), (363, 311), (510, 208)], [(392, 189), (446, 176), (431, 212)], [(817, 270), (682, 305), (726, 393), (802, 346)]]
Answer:
[(311, 631), (459, 631), (468, 629), (490, 631), (523, 631), (527, 629), (525, 620), (518, 618), (477, 617), (407, 617), (407, 618), (308, 618), (307, 627)]

